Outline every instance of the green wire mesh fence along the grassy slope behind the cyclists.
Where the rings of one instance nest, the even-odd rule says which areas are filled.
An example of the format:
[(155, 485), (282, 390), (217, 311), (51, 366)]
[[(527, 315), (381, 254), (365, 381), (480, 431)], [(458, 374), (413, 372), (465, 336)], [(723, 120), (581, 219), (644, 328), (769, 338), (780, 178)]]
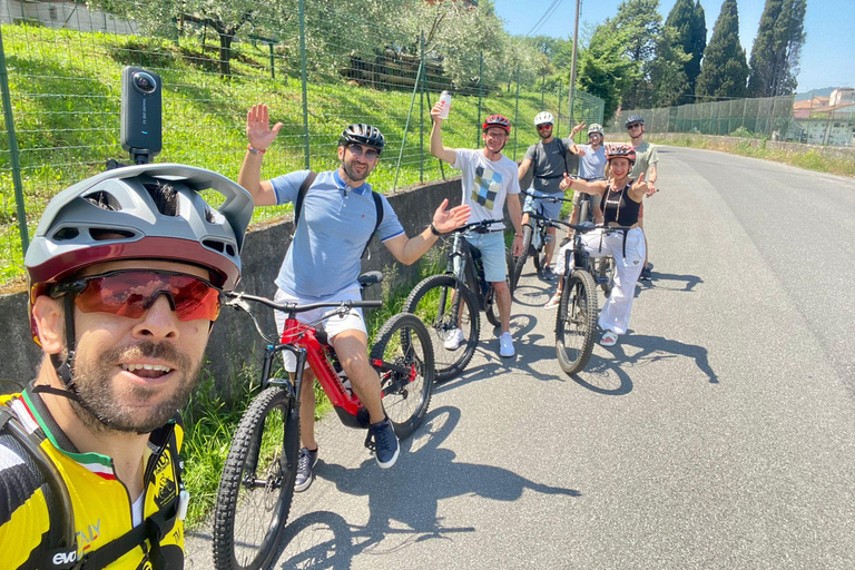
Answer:
[[(519, 66), (509, 70), (490, 53), (429, 47), (421, 30), (382, 26), (371, 13), (354, 21), (332, 3), (283, 1), (294, 10), (275, 21), (256, 16), (238, 31), (195, 13), (137, 21), (85, 4), (0, 3), (0, 75), (9, 95), (0, 132), (0, 281), (22, 273), (23, 228), (35, 230), (55, 194), (101, 171), (108, 158), (127, 158), (119, 125), (128, 65), (163, 80), (156, 160), (233, 179), (246, 149), (246, 111), (256, 102), (284, 125), (265, 155), (264, 177), (337, 166), (343, 128), (368, 122), (387, 141), (371, 177), (380, 191), (451, 174), (429, 153), (430, 108), (441, 90), (454, 96), (443, 124), (450, 147), (480, 145), (480, 125), (493, 112), (518, 127), (505, 150), (512, 158), (537, 138), (532, 120), (541, 110), (557, 116), (557, 132), (569, 132), (567, 85), (543, 92)], [(454, 58), (475, 72), (450, 73)], [(602, 101), (588, 94), (577, 90), (573, 108), (577, 119), (602, 120)], [(259, 208), (256, 219), (287, 209)]]

